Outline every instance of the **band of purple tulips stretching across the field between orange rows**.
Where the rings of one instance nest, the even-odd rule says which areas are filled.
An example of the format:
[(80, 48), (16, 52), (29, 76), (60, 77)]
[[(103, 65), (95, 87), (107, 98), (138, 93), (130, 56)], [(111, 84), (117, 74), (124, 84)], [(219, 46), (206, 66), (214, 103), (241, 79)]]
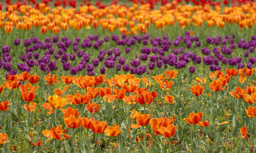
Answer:
[[(163, 39), (161, 37), (150, 38), (150, 34), (145, 34), (142, 37), (135, 35), (131, 38), (125, 35), (121, 37), (112, 35), (111, 37), (105, 36), (103, 39), (99, 39), (98, 35), (89, 35), (82, 41), (79, 37), (76, 37), (74, 41), (67, 37), (60, 39), (58, 36), (47, 37), (45, 41), (32, 37), (24, 40), (26, 54), (20, 55), (20, 60), (23, 62), (17, 64), (17, 69), (29, 72), (32, 67), (39, 67), (41, 71), (49, 73), (57, 70), (57, 61), (60, 59), (63, 70), (70, 71), (73, 75), (84, 69), (88, 75), (94, 75), (95, 67), (98, 67), (100, 62), (104, 64), (100, 68), (101, 74), (105, 73), (105, 68), (115, 67), (117, 71), (130, 71), (132, 74), (141, 75), (144, 73), (149, 74), (149, 70), (154, 70), (156, 67), (164, 67), (166, 69), (168, 66), (172, 66), (176, 69), (181, 69), (186, 67), (190, 61), (193, 61), (195, 65), (200, 64), (203, 60), (203, 63), (209, 66), (210, 71), (216, 71), (221, 70), (220, 62), (244, 68), (245, 63), (242, 62), (242, 57), (239, 56), (239, 53), (234, 53), (237, 57), (231, 56), (233, 51), (238, 49), (245, 50), (244, 57), (252, 55), (248, 59), (247, 68), (253, 68), (253, 64), (256, 62), (253, 56), (254, 48), (256, 47), (256, 36), (252, 36), (248, 42), (245, 39), (241, 39), (237, 44), (234, 42), (235, 38), (234, 35), (232, 37), (227, 35), (224, 38), (221, 36), (207, 37), (206, 43), (209, 44), (207, 47), (216, 46), (211, 50), (206, 47), (201, 48), (199, 37), (190, 36), (189, 32), (186, 32), (185, 36), (180, 35), (174, 40), (170, 40), (167, 35), (164, 35)], [(110, 39), (123, 50), (121, 51), (117, 47), (108, 51), (99, 49), (103, 43), (109, 43)], [(143, 45), (141, 45), (141, 42)], [(20, 40), (15, 39), (14, 45), (20, 45)], [(136, 46), (136, 51), (132, 51), (132, 46), (134, 45)], [(137, 52), (138, 46), (142, 46), (141, 53)], [(68, 54), (71, 47), (73, 47), (73, 54)], [(97, 58), (90, 56), (88, 52), (83, 52), (86, 48), (92, 47), (94, 48), (93, 52), (98, 52)], [(201, 53), (190, 52), (189, 50), (192, 47), (193, 50), (201, 50)], [(42, 55), (42, 51), (45, 51), (44, 55), (39, 58), (40, 54)], [(129, 54), (131, 51), (135, 52), (136, 56), (134, 59), (127, 61), (129, 58), (125, 57), (130, 55), (125, 54)], [(7, 71), (12, 70), (12, 64), (10, 63), (12, 57), (9, 52), (10, 47), (2, 47), (3, 60), (0, 59), (0, 68), (3, 65), (3, 69)], [(124, 57), (121, 57), (121, 55)], [(146, 62), (148, 59), (150, 62)], [(75, 60), (79, 61), (79, 63), (72, 67), (70, 61)], [(146, 65), (143, 63), (146, 63)], [(194, 66), (191, 66), (189, 67), (189, 72), (194, 73), (195, 69)]]

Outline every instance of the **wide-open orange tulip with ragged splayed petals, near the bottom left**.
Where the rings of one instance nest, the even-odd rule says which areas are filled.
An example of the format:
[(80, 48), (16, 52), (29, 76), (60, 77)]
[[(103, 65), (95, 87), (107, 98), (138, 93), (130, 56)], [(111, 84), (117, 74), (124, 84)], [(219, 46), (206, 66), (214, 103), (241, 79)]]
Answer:
[(66, 129), (62, 130), (62, 125), (58, 125), (57, 127), (52, 127), (50, 130), (45, 129), (42, 130), (42, 134), (44, 134), (45, 137), (49, 137), (49, 139), (58, 139), (63, 140), (64, 139), (70, 139), (69, 135), (65, 134)]

